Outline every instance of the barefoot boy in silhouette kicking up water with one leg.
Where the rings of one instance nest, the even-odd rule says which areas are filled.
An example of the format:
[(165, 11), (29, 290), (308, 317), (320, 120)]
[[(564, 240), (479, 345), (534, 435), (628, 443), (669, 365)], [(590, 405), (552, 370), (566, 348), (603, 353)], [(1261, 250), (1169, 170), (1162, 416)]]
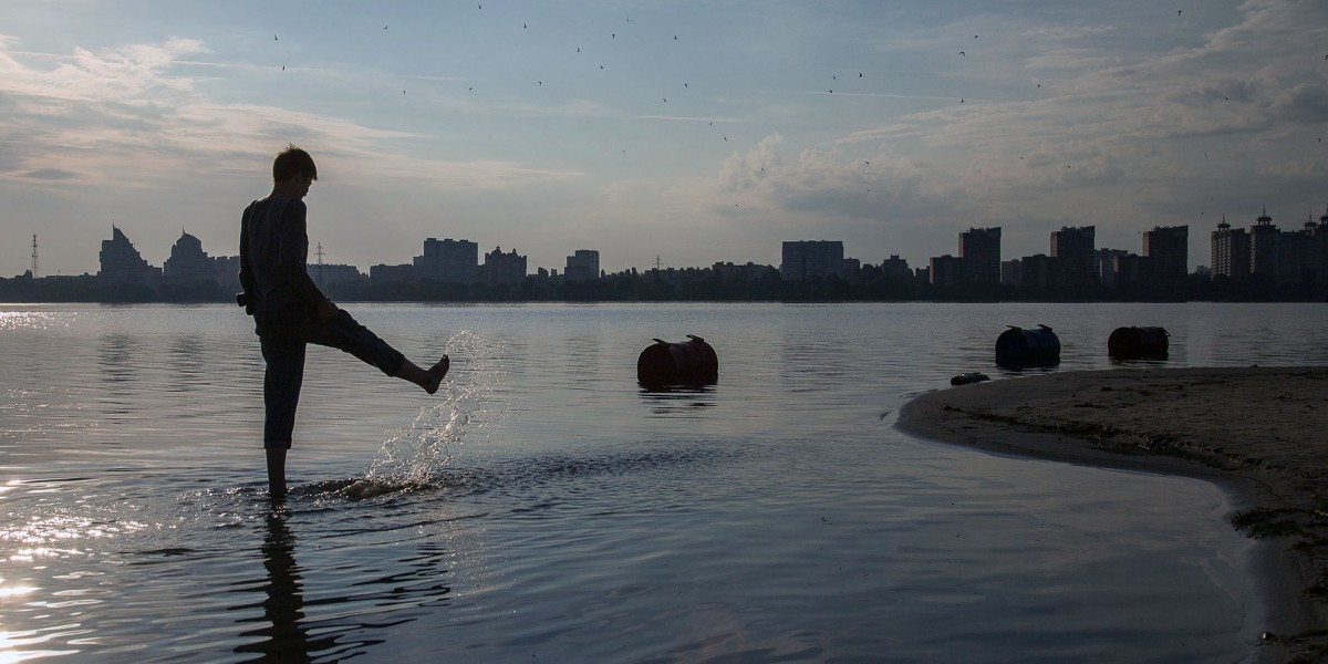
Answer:
[(382, 373), (433, 394), (448, 374), (446, 355), (429, 369), (406, 360), (349, 313), (332, 304), (309, 278), (304, 197), (319, 179), (309, 153), (291, 145), (272, 162), (272, 193), (244, 208), (240, 222), (238, 300), (254, 316), (263, 349), (263, 448), (272, 501), (286, 498), (286, 452), (304, 380), (305, 344), (345, 351)]

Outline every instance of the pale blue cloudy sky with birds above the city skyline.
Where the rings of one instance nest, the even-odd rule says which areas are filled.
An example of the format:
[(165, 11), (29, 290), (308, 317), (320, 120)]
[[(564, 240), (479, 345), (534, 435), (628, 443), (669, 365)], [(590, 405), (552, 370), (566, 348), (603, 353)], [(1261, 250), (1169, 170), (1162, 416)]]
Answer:
[[(0, 275), (238, 252), (288, 143), (325, 263), (425, 238), (562, 270), (1142, 252), (1328, 210), (1323, 0), (5, 0)], [(312, 250), (311, 250), (312, 251)], [(311, 256), (311, 260), (313, 258)]]

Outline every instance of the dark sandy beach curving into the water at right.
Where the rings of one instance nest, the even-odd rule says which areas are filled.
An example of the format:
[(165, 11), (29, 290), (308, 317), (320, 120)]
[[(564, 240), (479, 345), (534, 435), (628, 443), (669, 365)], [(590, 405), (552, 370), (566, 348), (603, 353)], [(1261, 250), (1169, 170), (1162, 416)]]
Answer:
[(923, 394), (899, 426), (1001, 453), (1203, 477), (1260, 539), (1270, 661), (1328, 661), (1328, 368), (1113, 369)]

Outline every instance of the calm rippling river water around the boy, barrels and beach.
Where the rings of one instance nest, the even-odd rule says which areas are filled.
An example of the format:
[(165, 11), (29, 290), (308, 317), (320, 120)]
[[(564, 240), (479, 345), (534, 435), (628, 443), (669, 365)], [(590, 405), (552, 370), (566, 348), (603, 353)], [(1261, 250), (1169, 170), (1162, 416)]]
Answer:
[[(1206, 482), (991, 456), (895, 413), (1056, 328), (1056, 371), (1324, 364), (1317, 304), (348, 305), (429, 397), (309, 352), (274, 511), (232, 307), (0, 305), (0, 661), (1244, 661)], [(652, 337), (720, 382), (647, 393)], [(1131, 365), (1147, 368), (1149, 365)]]

